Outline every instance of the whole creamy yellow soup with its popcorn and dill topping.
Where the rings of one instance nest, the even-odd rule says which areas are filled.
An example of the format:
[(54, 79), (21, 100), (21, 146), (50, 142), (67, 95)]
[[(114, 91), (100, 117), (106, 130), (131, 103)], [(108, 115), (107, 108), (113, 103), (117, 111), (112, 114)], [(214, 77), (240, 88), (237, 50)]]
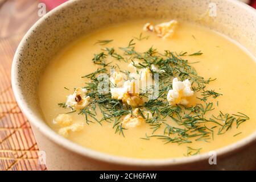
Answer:
[[(202, 154), (253, 133), (253, 57), (195, 24), (147, 22), (93, 31), (50, 61), (39, 83), (47, 124), (81, 146), (140, 159)], [(110, 77), (98, 79), (108, 82), (102, 94), (96, 92), (100, 73)], [(127, 85), (147, 83), (144, 76), (156, 83), (156, 73), (158, 95), (126, 93)]]

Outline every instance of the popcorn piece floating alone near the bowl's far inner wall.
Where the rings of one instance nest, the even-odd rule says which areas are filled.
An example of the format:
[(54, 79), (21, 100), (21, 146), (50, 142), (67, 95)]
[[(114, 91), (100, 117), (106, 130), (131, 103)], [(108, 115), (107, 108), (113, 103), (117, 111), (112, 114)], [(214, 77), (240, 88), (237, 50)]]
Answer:
[(160, 38), (166, 39), (174, 35), (174, 31), (177, 27), (177, 21), (171, 20), (170, 22), (157, 24), (155, 27), (151, 23), (146, 23), (143, 27), (143, 31), (155, 32)]

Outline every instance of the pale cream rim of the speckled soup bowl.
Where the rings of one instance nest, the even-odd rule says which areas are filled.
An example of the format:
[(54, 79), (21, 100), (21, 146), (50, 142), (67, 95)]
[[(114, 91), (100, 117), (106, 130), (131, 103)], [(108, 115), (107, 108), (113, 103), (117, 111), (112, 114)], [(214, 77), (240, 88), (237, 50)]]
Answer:
[[(243, 7), (243, 9), (250, 11), (252, 14), (256, 13), (253, 7), (250, 7), (245, 3), (242, 3), (239, 1), (233, 1), (233, 0), (225, 0), (225, 1), (229, 3), (235, 3), (237, 6)], [(55, 133), (55, 131), (53, 131), (42, 119), (40, 119), (40, 117), (32, 113), (30, 108), (28, 108), (26, 102), (21, 99), (22, 91), (18, 86), (19, 82), (18, 82), (17, 65), (18, 65), (18, 60), (20, 58), (19, 53), (22, 50), (22, 47), (26, 45), (26, 39), (30, 39), (30, 35), (33, 34), (33, 30), (35, 30), (36, 27), (40, 26), (40, 24), (42, 24), (44, 20), (49, 18), (49, 16), (58, 13), (61, 9), (64, 9), (66, 6), (69, 6), (72, 3), (76, 3), (76, 2), (77, 1), (67, 1), (62, 5), (60, 5), (59, 7), (56, 7), (54, 10), (49, 11), (48, 14), (40, 18), (38, 22), (36, 22), (34, 26), (32, 26), (30, 30), (28, 30), (27, 34), (24, 35), (22, 41), (20, 42), (15, 52), (13, 64), (11, 67), (11, 84), (13, 87), (16, 101), (18, 102), (18, 105), (22, 110), (23, 114), (26, 115), (28, 121), (30, 121), (30, 123), (32, 123), (32, 125), (36, 127), (46, 137), (51, 139), (56, 144), (59, 144), (59, 146), (62, 146), (69, 151), (76, 152), (77, 154), (80, 154), (95, 160), (100, 160), (106, 163), (113, 163), (113, 164), (126, 165), (126, 166), (164, 167), (164, 166), (178, 166), (181, 164), (195, 163), (202, 160), (208, 160), (209, 159), (208, 153), (199, 154), (195, 156), (188, 156), (183, 158), (166, 158), (166, 159), (136, 159), (136, 158), (126, 158), (122, 156), (105, 154), (103, 152), (94, 151), (92, 149), (82, 147), (79, 144), (73, 143), (70, 140), (61, 137), (60, 135)], [(239, 140), (236, 143), (230, 144), (229, 146), (225, 146), (214, 151), (216, 152), (217, 157), (233, 154), (233, 152), (242, 150), (242, 148), (245, 148), (247, 145), (255, 142), (255, 140), (256, 140), (256, 131), (253, 134), (249, 135), (248, 137), (242, 140)]]

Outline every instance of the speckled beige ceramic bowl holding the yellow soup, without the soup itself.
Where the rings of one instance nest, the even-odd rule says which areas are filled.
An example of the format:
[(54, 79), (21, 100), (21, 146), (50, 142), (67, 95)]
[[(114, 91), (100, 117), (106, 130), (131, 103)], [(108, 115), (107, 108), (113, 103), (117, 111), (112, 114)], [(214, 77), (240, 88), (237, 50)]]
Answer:
[(16, 100), (32, 125), (40, 150), (46, 152), (48, 169), (255, 169), (256, 133), (217, 150), (217, 165), (209, 165), (208, 154), (160, 160), (107, 155), (60, 137), (46, 125), (37, 91), (48, 60), (86, 32), (105, 24), (139, 18), (175, 18), (203, 24), (236, 40), (256, 56), (256, 11), (238, 1), (74, 0), (64, 3), (27, 32), (15, 53), (11, 72)]

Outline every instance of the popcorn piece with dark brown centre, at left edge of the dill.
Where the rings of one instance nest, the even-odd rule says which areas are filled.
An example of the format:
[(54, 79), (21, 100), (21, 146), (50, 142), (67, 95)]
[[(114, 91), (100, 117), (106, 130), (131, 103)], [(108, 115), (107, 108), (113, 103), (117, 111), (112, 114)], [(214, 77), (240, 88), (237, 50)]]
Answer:
[(86, 89), (77, 88), (72, 95), (68, 96), (66, 105), (73, 109), (84, 109), (90, 104), (90, 96), (86, 96), (86, 93)]

